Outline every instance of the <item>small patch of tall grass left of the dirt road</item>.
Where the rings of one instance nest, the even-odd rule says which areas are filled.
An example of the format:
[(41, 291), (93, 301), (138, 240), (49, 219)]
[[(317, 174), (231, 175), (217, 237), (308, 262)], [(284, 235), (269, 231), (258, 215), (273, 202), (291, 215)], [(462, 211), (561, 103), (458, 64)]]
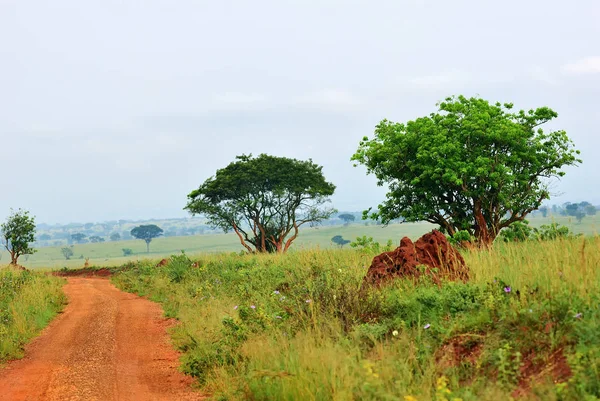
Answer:
[(23, 346), (62, 309), (63, 281), (31, 271), (0, 269), (0, 364), (23, 356)]

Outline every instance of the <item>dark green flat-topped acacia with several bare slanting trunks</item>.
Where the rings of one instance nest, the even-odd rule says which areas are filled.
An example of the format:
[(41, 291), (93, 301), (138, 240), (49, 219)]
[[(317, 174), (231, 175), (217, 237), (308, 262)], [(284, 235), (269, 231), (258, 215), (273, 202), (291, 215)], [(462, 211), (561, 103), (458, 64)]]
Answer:
[(249, 252), (282, 253), (300, 226), (336, 212), (325, 206), (334, 190), (312, 160), (242, 155), (192, 191), (184, 209), (224, 232), (233, 230)]

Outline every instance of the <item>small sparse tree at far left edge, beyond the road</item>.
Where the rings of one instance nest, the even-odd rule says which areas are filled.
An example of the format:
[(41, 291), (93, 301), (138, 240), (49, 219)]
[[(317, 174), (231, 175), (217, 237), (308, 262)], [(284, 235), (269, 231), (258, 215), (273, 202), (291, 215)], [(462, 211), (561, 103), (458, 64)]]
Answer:
[(35, 217), (29, 211), (11, 210), (6, 221), (0, 225), (2, 245), (10, 253), (10, 263), (16, 265), (21, 255), (32, 254), (35, 249), (29, 243), (35, 241)]

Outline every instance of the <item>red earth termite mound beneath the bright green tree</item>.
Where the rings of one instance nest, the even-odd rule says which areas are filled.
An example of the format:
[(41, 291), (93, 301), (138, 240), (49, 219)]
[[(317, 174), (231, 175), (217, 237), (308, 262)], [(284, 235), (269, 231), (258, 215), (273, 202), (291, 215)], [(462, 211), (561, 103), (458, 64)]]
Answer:
[(423, 235), (413, 243), (404, 237), (400, 246), (373, 258), (365, 283), (379, 286), (394, 278), (430, 276), (435, 283), (441, 279), (469, 279), (469, 268), (460, 253), (437, 230)]

